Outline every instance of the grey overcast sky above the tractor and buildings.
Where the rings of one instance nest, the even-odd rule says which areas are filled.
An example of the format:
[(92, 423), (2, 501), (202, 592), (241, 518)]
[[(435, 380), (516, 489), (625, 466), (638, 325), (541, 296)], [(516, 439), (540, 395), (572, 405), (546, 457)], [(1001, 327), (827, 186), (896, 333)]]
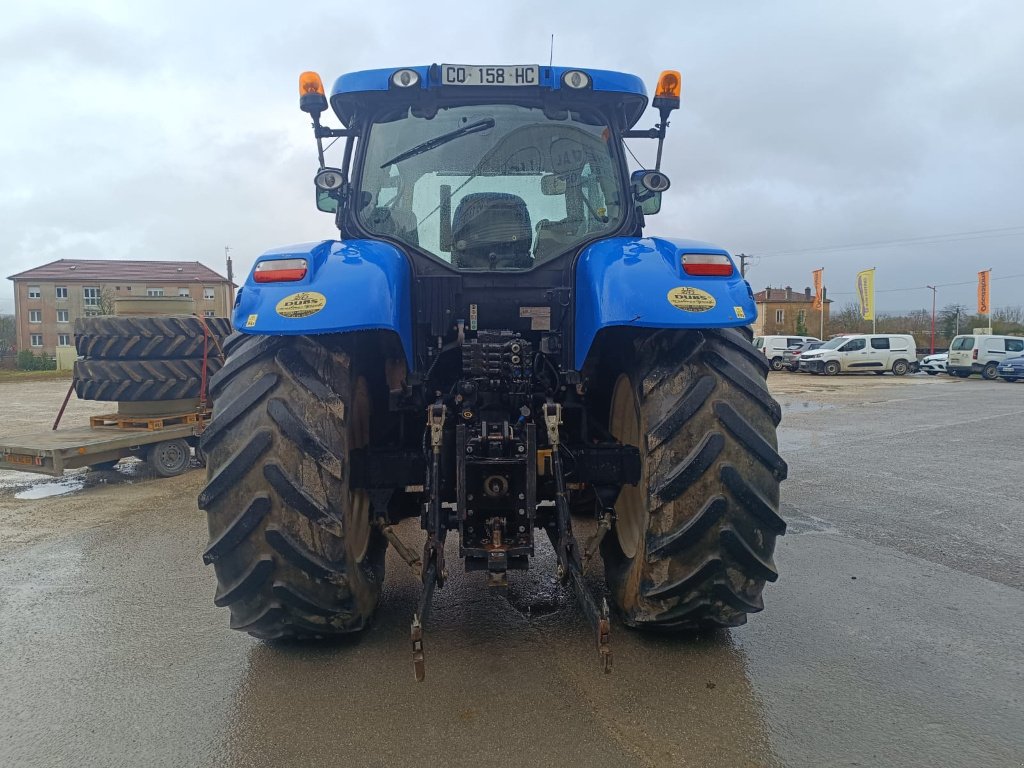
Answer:
[[(648, 233), (755, 255), (755, 290), (803, 288), (824, 266), (845, 303), (874, 266), (880, 310), (931, 304), (924, 288), (891, 289), (955, 283), (939, 305), (973, 307), (991, 267), (993, 304), (1024, 304), (1016, 0), (5, 2), (2, 276), (57, 258), (222, 272), (224, 246), (244, 274), (270, 247), (331, 238), (301, 71), (330, 84), (433, 61), (546, 63), (552, 33), (556, 65), (635, 72), (648, 90), (660, 70), (683, 73), (673, 186)], [(631, 144), (652, 160), (653, 142)], [(0, 311), (11, 297), (4, 280)]]

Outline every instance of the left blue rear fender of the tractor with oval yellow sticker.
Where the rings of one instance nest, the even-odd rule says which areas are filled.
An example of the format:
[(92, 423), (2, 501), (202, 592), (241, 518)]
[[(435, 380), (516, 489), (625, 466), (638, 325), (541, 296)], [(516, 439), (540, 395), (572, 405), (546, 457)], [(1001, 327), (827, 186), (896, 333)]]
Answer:
[[(306, 259), (302, 280), (256, 283), (261, 261)], [(234, 300), (232, 323), (246, 334), (304, 336), (394, 331), (413, 369), (412, 274), (406, 256), (376, 240), (326, 240), (267, 251)]]

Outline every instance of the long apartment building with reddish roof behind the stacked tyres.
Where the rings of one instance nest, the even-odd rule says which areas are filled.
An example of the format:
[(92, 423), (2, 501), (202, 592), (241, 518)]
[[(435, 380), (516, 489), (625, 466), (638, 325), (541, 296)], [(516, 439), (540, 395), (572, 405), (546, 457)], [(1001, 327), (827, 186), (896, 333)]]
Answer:
[(7, 280), (14, 283), (18, 349), (54, 354), (75, 343), (75, 321), (112, 314), (114, 301), (133, 296), (181, 296), (207, 317), (230, 316), (234, 286), (198, 261), (60, 259)]

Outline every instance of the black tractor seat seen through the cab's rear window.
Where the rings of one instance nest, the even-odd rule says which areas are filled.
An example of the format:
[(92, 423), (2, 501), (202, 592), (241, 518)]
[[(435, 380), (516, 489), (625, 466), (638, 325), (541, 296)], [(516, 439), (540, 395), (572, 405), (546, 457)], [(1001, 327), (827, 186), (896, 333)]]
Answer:
[(529, 210), (517, 195), (467, 195), (452, 217), (452, 263), (476, 269), (525, 269), (532, 263)]

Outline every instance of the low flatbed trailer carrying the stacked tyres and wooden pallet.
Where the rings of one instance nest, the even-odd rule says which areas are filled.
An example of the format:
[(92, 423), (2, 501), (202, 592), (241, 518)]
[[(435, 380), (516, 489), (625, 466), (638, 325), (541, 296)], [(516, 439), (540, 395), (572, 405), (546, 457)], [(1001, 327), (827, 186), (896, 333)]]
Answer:
[(134, 457), (163, 476), (181, 474), (209, 412), (159, 417), (92, 417), (90, 426), (0, 437), (0, 469), (59, 477), (69, 469), (113, 467)]

